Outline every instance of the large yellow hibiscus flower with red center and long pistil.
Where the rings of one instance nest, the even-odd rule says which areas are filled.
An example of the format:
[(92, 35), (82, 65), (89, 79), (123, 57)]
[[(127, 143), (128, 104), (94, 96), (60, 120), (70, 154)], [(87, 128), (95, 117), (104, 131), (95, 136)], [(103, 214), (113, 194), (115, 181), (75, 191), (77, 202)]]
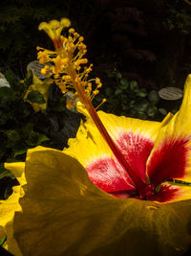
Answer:
[(74, 56), (79, 35), (69, 36), (56, 34), (59, 47), (47, 55), (87, 121), (68, 149), (28, 151), (22, 212), (13, 221), (22, 254), (181, 255), (191, 245), (191, 76), (180, 111), (161, 123), (96, 112), (91, 100), (101, 82), (92, 93), (88, 67), (80, 72), (85, 63)]

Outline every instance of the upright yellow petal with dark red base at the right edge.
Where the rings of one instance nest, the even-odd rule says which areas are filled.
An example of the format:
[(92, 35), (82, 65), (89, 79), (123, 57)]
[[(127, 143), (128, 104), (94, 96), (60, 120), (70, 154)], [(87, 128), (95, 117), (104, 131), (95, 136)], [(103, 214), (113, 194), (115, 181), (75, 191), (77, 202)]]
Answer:
[(191, 182), (191, 75), (184, 86), (180, 111), (159, 130), (147, 161), (147, 174), (158, 183), (169, 178)]

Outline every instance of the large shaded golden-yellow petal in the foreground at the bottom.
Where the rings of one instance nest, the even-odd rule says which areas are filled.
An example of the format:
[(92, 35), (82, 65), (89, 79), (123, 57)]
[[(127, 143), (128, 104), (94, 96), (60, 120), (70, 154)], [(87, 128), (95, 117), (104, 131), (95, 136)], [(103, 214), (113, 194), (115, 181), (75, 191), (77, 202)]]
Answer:
[(180, 255), (191, 244), (191, 200), (114, 198), (61, 151), (30, 151), (14, 236), (23, 255)]

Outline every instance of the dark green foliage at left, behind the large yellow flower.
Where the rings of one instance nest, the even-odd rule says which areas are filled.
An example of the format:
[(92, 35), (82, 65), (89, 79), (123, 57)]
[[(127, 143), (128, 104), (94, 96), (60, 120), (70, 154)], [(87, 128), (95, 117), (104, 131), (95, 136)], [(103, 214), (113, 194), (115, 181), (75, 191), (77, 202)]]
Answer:
[[(34, 112), (32, 105), (23, 100), (33, 84), (32, 72), (23, 81), (11, 70), (6, 71), (5, 77), (11, 86), (0, 87), (0, 199), (8, 198), (11, 187), (17, 184), (4, 168), (5, 162), (24, 161), (27, 150), (38, 145), (62, 150), (68, 139), (75, 136), (80, 120), (79, 114), (66, 109), (66, 100), (54, 84), (47, 108)], [(45, 103), (43, 95), (35, 90), (28, 94), (28, 100), (38, 105)]]

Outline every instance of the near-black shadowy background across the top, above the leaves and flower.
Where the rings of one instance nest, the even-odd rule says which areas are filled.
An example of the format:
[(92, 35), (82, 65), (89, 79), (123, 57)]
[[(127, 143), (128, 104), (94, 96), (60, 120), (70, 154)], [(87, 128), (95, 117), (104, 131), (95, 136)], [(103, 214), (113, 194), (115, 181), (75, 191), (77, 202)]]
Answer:
[(183, 86), (191, 69), (191, 6), (183, 0), (7, 0), (0, 4), (0, 67), (22, 79), (35, 47), (52, 47), (42, 21), (68, 17), (103, 81), (117, 69), (149, 89)]

